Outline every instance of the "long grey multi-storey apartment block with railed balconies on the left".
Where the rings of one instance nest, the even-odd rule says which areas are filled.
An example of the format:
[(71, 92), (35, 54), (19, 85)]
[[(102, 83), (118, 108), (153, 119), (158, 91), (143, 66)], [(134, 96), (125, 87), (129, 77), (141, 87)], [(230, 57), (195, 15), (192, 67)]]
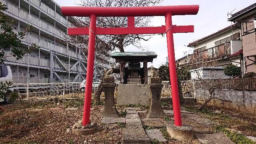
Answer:
[[(32, 25), (32, 31), (22, 39), (22, 48), (39, 48), (21, 60), (10, 56), (6, 49), (6, 64), (11, 66), (14, 84), (81, 82), (86, 78), (87, 53), (81, 46), (68, 41), (67, 28), (72, 27), (72, 17), (63, 17), (61, 8), (53, 0), (0, 0), (7, 5), (4, 13), (14, 20), (14, 32)], [(86, 46), (86, 44), (84, 44)], [(102, 60), (103, 59), (103, 60)], [(110, 54), (95, 59), (94, 78), (99, 78), (103, 68), (110, 68), (114, 59)]]

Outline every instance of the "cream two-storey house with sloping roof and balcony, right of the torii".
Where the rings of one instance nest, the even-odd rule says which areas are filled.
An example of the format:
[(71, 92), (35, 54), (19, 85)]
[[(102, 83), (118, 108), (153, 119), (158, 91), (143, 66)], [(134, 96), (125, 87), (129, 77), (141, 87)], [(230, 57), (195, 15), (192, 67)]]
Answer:
[[(188, 44), (194, 48), (194, 54), (206, 61), (216, 61), (216, 66), (235, 64), (244, 70), (242, 57), (241, 25), (233, 24), (218, 32)], [(184, 56), (176, 62), (189, 63), (194, 54)]]

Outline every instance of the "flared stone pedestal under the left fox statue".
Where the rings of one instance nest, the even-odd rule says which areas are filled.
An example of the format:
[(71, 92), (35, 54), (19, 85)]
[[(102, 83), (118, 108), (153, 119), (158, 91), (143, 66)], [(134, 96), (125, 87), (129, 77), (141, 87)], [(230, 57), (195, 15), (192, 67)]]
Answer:
[[(103, 79), (102, 88), (105, 94), (105, 104), (104, 108), (101, 112), (101, 116), (106, 117), (113, 117), (117, 118), (119, 117), (118, 111), (116, 110), (115, 104), (114, 104), (114, 91), (116, 85), (114, 84), (114, 77), (112, 76), (106, 76)], [(108, 82), (108, 83), (105, 83)]]

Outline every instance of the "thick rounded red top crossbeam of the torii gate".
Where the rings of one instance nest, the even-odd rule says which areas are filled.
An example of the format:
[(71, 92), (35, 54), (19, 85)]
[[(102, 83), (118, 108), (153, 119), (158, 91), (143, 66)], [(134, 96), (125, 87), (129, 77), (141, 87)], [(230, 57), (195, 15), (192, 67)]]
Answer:
[(198, 5), (185, 6), (139, 6), (139, 7), (89, 7), (89, 6), (65, 6), (61, 8), (64, 16), (165, 16), (166, 13), (175, 15), (197, 14)]

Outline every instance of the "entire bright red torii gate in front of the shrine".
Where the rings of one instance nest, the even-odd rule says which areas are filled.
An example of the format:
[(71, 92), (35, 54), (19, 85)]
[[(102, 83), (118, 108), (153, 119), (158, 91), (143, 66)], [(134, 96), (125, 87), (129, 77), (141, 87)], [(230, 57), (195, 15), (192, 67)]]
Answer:
[[(86, 73), (86, 90), (84, 98), (84, 113), (82, 125), (90, 123), (90, 107), (92, 98), (92, 79), (94, 71), (94, 52), (96, 35), (118, 34), (164, 34), (167, 37), (168, 60), (170, 82), (172, 90), (172, 103), (174, 110), (174, 125), (182, 126), (180, 114), (180, 101), (174, 55), (173, 33), (194, 32), (194, 26), (172, 25), (172, 16), (195, 15), (198, 13), (198, 5), (187, 6), (145, 6), (145, 7), (86, 7), (86, 6), (62, 6), (64, 16), (90, 17), (90, 27), (68, 28), (69, 35), (89, 35), (88, 61)], [(126, 28), (100, 28), (96, 27), (96, 17), (128, 17)], [(135, 27), (135, 16), (165, 16), (166, 26)]]

